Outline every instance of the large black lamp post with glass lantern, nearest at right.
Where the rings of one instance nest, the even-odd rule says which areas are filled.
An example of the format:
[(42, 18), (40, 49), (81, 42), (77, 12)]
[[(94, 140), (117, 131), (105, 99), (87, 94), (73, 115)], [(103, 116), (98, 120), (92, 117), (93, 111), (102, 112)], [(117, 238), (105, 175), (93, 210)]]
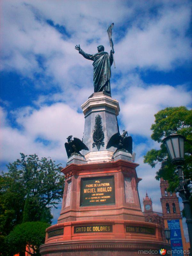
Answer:
[(192, 255), (192, 214), (189, 205), (190, 191), (188, 189), (190, 179), (184, 180), (181, 166), (181, 164), (184, 163), (184, 140), (185, 137), (180, 134), (171, 134), (168, 137), (164, 138), (164, 142), (167, 147), (169, 156), (171, 157), (172, 163), (177, 165), (179, 186), (176, 188), (176, 191), (179, 192), (179, 196), (182, 198), (183, 201), (189, 234), (190, 255)]

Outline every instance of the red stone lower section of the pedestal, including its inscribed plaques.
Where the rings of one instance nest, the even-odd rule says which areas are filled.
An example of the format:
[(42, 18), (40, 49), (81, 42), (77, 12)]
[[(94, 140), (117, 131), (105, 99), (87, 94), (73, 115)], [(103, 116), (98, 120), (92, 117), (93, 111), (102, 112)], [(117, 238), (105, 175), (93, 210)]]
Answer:
[(137, 166), (120, 159), (62, 169), (62, 209), (58, 223), (46, 230), (41, 255), (136, 256), (139, 250), (169, 249), (161, 227), (144, 221)]

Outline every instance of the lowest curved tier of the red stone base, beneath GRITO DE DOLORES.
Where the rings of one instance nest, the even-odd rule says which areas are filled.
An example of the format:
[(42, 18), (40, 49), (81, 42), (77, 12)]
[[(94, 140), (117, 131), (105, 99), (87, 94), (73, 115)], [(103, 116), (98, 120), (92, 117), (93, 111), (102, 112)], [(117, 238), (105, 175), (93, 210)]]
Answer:
[[(171, 250), (167, 243), (133, 240), (73, 241), (44, 244), (44, 256), (138, 256), (159, 255), (159, 249)], [(143, 252), (146, 251), (146, 252)], [(170, 255), (166, 253), (166, 255)]]

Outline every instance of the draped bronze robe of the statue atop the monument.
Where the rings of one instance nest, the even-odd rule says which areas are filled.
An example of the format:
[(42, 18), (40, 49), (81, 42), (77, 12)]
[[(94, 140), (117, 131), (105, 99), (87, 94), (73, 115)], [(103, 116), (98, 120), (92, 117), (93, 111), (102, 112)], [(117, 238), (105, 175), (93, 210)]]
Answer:
[(96, 54), (85, 53), (82, 49), (80, 54), (87, 60), (93, 60), (93, 84), (94, 92), (107, 92), (111, 94), (110, 77), (111, 65), (113, 64), (113, 55), (107, 52), (98, 52)]

